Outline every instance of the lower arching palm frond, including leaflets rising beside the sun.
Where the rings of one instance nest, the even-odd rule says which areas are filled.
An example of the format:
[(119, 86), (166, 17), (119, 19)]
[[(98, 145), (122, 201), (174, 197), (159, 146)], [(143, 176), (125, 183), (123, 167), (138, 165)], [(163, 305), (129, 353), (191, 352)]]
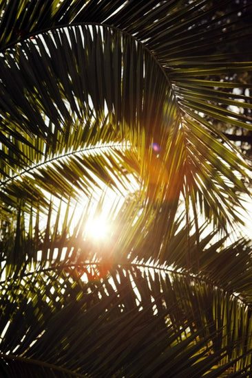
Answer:
[[(157, 247), (158, 235), (151, 223), (161, 225), (163, 219), (150, 222), (146, 209), (139, 215), (139, 205), (129, 211), (126, 204), (125, 210), (120, 210), (118, 219), (114, 219), (118, 231), (112, 227), (107, 252), (104, 243), (99, 249), (85, 236), (88, 209), (73, 231), (72, 216), (67, 210), (63, 228), (59, 225), (57, 229), (58, 219), (48, 223), (40, 235), (32, 231), (33, 227), (29, 227), (29, 234), (25, 233), (24, 215), (20, 214), (15, 248), (10, 233), (6, 233), (1, 248), (5, 308), (1, 318), (1, 357), (10, 366), (4, 365), (7, 377), (16, 368), (36, 371), (41, 376), (50, 370), (63, 377), (67, 372), (73, 372), (73, 376), (90, 373), (94, 377), (102, 372), (108, 377), (120, 377), (123, 372), (151, 377), (156, 372), (158, 377), (169, 370), (178, 377), (185, 371), (192, 376), (200, 371), (218, 377), (231, 366), (240, 374), (246, 372), (251, 363), (249, 246), (240, 241), (222, 248), (223, 240), (208, 247), (214, 234), (201, 238), (201, 244), (190, 250), (192, 261), (196, 261), (194, 254), (200, 254), (200, 273), (193, 273), (196, 263), (191, 265), (190, 273), (187, 245), (195, 245), (196, 235), (188, 241), (182, 219), (174, 225), (170, 238), (164, 240), (160, 234), (160, 251), (164, 245), (166, 250), (155, 258), (150, 241), (154, 240)], [(151, 211), (155, 214), (150, 208), (149, 215)], [(141, 243), (135, 240), (128, 245), (125, 241), (130, 234), (139, 232), (140, 218), (146, 236)], [(48, 222), (50, 219), (52, 216), (48, 216)], [(153, 263), (138, 262), (136, 256), (147, 258), (143, 254), (147, 249)], [(157, 265), (160, 256), (161, 266)], [(229, 265), (223, 263), (227, 256)], [(169, 263), (174, 267), (166, 266)], [(218, 266), (218, 270), (212, 266)], [(66, 328), (62, 329), (62, 324)], [(17, 326), (19, 332), (14, 331)], [(52, 337), (55, 334), (58, 336)], [(158, 346), (156, 354), (152, 353), (146, 366), (146, 353), (154, 346)], [(73, 354), (76, 357), (70, 358)], [(218, 368), (220, 360), (222, 367)], [(164, 361), (170, 363), (164, 365)], [(35, 370), (30, 370), (31, 365)]]

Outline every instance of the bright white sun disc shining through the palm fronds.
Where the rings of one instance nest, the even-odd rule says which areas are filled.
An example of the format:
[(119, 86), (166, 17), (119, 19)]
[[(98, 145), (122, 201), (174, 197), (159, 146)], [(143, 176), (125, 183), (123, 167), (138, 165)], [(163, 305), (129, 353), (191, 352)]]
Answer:
[(95, 216), (87, 221), (86, 236), (92, 238), (93, 241), (105, 241), (109, 238), (111, 227), (103, 215)]

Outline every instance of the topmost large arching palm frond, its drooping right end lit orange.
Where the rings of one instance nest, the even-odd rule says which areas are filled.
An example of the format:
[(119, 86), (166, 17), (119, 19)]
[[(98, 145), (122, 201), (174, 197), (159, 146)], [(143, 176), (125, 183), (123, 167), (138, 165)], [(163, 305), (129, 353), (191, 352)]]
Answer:
[[(61, 65), (63, 60), (67, 63), (67, 69)], [(133, 144), (140, 145), (140, 151), (144, 151), (143, 155), (138, 150), (142, 166), (140, 175), (149, 185), (151, 198), (159, 196), (173, 202), (178, 201), (182, 192), (185, 203), (189, 203), (189, 199), (194, 202), (200, 196), (204, 214), (213, 218), (215, 223), (219, 221), (224, 225), (227, 213), (238, 220), (233, 209), (233, 205), (239, 203), (235, 192), (246, 192), (246, 188), (237, 174), (246, 176), (246, 164), (234, 151), (230, 151), (230, 143), (226, 147), (209, 135), (207, 129), (217, 133), (218, 137), (221, 134), (201, 115), (193, 115), (191, 97), (191, 110), (187, 109), (187, 104), (179, 100), (180, 93), (174, 92), (174, 86), (160, 63), (134, 38), (107, 27), (63, 28), (54, 30), (53, 34), (50, 32), (34, 37), (32, 41), (28, 39), (18, 45), (14, 52), (10, 49), (3, 58), (3, 65), (5, 80), (2, 82), (2, 93), (6, 101), (2, 104), (2, 115), (6, 118), (5, 124), (11, 118), (14, 124), (22, 125), (22, 130), (44, 137), (49, 146), (52, 143), (54, 153), (57, 153), (63, 145), (65, 149), (70, 145), (69, 138), (74, 135), (74, 127), (78, 129), (78, 124), (82, 122), (89, 124), (90, 117), (101, 120), (101, 126), (96, 127), (106, 135), (104, 120), (107, 109), (107, 135), (113, 140), (118, 135), (119, 140), (126, 140), (131, 145), (130, 135), (133, 135)], [(154, 71), (159, 72), (155, 77)], [(16, 80), (21, 92), (8, 93)], [(194, 103), (200, 106), (199, 100)], [(205, 105), (204, 108), (207, 109)], [(197, 114), (202, 110), (198, 108)], [(230, 111), (228, 113), (231, 116)], [(211, 111), (207, 113), (211, 114)], [(58, 135), (62, 132), (67, 139), (61, 139), (59, 144)], [(16, 128), (14, 133), (11, 136), (16, 140)], [(23, 150), (23, 131), (20, 133), (21, 137), (13, 143), (13, 148), (9, 144), (4, 151), (6, 157), (9, 151), (12, 161), (13, 155), (16, 155), (16, 160), (22, 162), (19, 155), (23, 153), (17, 148), (21, 144)], [(3, 137), (6, 136), (5, 131)], [(86, 134), (83, 137), (88, 138)], [(98, 133), (96, 137), (98, 140)], [(151, 148), (153, 143), (158, 146), (157, 157)], [(36, 156), (30, 147), (32, 143), (28, 144), (30, 154), (28, 151), (25, 155)], [(39, 156), (50, 151), (50, 147), (42, 146), (44, 150), (39, 151)], [(79, 148), (77, 144), (76, 148)], [(172, 160), (171, 155), (178, 159)], [(10, 166), (10, 158), (6, 158), (5, 166), (2, 164), (3, 172), (8, 170), (6, 166)], [(234, 169), (236, 175), (232, 173)], [(65, 170), (66, 174), (67, 171), (69, 169)], [(59, 175), (56, 180), (60, 182)], [(73, 181), (76, 179), (70, 177), (70, 182)], [(52, 179), (54, 183), (55, 179)], [(70, 194), (72, 185), (64, 189)], [(196, 208), (193, 211), (196, 214)]]

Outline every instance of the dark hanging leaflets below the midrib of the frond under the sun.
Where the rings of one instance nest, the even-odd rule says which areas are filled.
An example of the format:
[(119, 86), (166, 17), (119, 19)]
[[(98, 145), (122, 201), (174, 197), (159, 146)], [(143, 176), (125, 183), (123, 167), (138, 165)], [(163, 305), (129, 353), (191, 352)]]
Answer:
[[(187, 230), (180, 234), (183, 232), (187, 234)], [(204, 373), (220, 377), (231, 366), (241, 376), (246, 373), (251, 364), (251, 310), (242, 296), (235, 298), (241, 287), (237, 277), (229, 276), (227, 284), (223, 280), (227, 271), (223, 264), (218, 265), (223, 274), (220, 269), (214, 272), (220, 281), (211, 276), (217, 246), (200, 249), (210, 262), (204, 263), (197, 276), (181, 269), (129, 264), (119, 254), (111, 267), (105, 266), (107, 259), (85, 263), (85, 243), (82, 241), (82, 247), (80, 240), (78, 243), (83, 260), (79, 256), (74, 262), (68, 256), (65, 264), (41, 265), (21, 276), (8, 275), (1, 282), (6, 308), (1, 319), (1, 357), (13, 371), (20, 363), (24, 372), (32, 372), (30, 365), (34, 364), (43, 372), (46, 368), (62, 370), (61, 376), (70, 370), (73, 376), (90, 373), (92, 377), (160, 377), (169, 371), (175, 377), (185, 372), (192, 377)], [(209, 236), (202, 239), (204, 243), (209, 243)], [(123, 243), (118, 252), (123, 256), (122, 247)], [(187, 254), (185, 245), (183, 252), (181, 249), (180, 261)], [(244, 243), (229, 247), (233, 249), (238, 255), (236, 266), (242, 271), (244, 258), (238, 252), (244, 252)], [(219, 253), (220, 259), (227, 259), (227, 249)], [(245, 254), (249, 258), (250, 250)], [(110, 273), (105, 277), (107, 269)], [(17, 324), (19, 332), (13, 337)]]

